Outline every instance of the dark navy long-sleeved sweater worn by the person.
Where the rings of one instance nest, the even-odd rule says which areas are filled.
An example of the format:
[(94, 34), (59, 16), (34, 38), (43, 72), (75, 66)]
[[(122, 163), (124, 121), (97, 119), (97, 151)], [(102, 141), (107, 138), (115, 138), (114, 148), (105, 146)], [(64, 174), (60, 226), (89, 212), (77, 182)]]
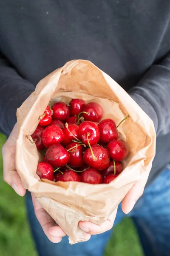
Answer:
[(170, 1), (1, 1), (1, 132), (37, 82), (72, 59), (108, 73), (153, 120), (150, 183), (170, 162)]

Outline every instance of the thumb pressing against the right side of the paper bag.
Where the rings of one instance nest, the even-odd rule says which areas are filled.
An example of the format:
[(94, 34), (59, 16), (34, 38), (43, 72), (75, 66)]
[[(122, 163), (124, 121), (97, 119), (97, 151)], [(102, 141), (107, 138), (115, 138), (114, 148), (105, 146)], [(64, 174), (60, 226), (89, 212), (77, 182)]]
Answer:
[(134, 205), (136, 204), (136, 201), (142, 196), (144, 192), (144, 187), (146, 185), (148, 178), (148, 174), (144, 173), (142, 178), (137, 181), (133, 187), (129, 190), (127, 195), (125, 195), (125, 198), (122, 200), (122, 211), (127, 214), (129, 213)]

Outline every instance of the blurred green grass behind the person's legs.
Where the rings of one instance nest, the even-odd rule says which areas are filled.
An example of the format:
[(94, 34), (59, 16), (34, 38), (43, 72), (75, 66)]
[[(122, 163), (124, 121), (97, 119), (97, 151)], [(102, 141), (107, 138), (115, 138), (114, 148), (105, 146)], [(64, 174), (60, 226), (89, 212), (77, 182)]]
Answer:
[[(0, 134), (0, 152), (6, 138)], [(36, 256), (26, 220), (24, 198), (3, 182), (3, 164), (0, 153), (0, 255)], [(129, 218), (114, 229), (105, 256), (143, 256), (136, 230)]]

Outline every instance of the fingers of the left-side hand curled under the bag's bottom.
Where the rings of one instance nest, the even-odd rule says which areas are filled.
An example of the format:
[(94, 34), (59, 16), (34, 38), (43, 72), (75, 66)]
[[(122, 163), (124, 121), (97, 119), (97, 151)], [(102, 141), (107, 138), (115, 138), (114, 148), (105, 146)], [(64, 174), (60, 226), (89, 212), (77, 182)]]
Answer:
[(40, 225), (52, 243), (59, 243), (63, 236), (66, 236), (65, 232), (55, 223), (54, 219), (42, 208), (41, 204), (36, 200), (35, 195), (31, 193), (32, 202), (34, 205), (35, 215)]

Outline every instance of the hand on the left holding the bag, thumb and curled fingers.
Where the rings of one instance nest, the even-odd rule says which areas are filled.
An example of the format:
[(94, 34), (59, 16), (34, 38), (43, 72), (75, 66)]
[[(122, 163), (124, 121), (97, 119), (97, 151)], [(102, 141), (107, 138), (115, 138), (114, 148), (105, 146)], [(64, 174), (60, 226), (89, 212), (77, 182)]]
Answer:
[[(8, 140), (3, 145), (3, 179), (8, 183), (15, 192), (24, 196), (26, 189), (23, 187), (20, 176), (17, 173), (15, 167), (15, 154), (16, 154), (16, 140), (17, 140), (17, 125), (8, 137)], [(40, 203), (36, 200), (33, 193), (31, 193), (32, 201), (34, 205), (35, 215), (37, 220), (48, 237), (48, 239), (53, 243), (59, 243), (63, 236), (66, 236), (65, 232), (55, 223), (54, 219), (42, 208)], [(88, 235), (89, 236), (89, 235)]]

